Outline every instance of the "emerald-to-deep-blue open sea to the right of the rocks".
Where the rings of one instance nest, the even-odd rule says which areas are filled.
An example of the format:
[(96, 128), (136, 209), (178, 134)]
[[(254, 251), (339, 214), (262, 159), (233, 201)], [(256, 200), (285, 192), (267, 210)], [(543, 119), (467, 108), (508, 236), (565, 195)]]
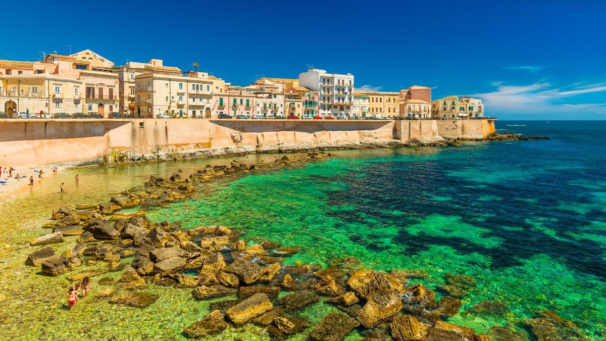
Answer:
[(353, 255), (384, 271), (425, 269), (430, 286), (447, 272), (472, 275), (478, 287), (464, 308), (499, 300), (512, 313), (451, 322), (485, 332), (551, 309), (597, 336), (606, 328), (606, 123), (506, 124), (553, 140), (341, 152), (218, 184), (151, 217), (302, 246), (288, 263)]

